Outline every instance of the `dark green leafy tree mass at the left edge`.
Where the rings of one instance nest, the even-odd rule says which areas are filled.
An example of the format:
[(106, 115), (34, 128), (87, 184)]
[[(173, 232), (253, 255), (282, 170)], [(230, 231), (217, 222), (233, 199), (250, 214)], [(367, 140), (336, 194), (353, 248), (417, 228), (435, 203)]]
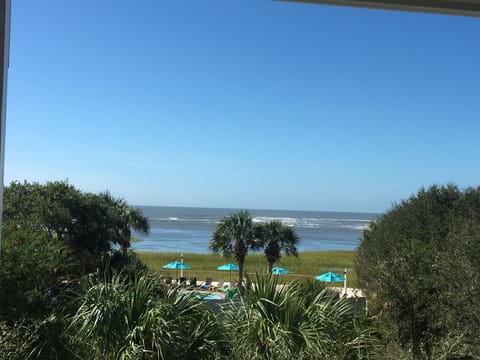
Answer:
[(84, 193), (63, 181), (7, 186), (0, 321), (41, 318), (72, 280), (99, 268), (142, 268), (113, 247), (128, 248), (131, 228), (148, 231), (148, 220), (108, 193)]

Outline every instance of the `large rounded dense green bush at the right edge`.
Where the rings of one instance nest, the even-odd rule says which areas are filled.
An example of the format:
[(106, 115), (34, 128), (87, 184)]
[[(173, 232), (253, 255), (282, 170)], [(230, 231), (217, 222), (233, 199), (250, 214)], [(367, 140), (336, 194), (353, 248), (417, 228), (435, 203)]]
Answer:
[(357, 272), (414, 359), (480, 356), (480, 189), (421, 189), (364, 232)]

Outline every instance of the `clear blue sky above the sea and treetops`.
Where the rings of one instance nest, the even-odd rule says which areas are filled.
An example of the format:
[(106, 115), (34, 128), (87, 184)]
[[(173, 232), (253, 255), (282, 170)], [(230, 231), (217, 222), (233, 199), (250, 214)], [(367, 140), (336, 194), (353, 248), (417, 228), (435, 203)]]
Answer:
[(136, 205), (383, 212), (480, 179), (480, 19), (14, 0), (5, 182)]

